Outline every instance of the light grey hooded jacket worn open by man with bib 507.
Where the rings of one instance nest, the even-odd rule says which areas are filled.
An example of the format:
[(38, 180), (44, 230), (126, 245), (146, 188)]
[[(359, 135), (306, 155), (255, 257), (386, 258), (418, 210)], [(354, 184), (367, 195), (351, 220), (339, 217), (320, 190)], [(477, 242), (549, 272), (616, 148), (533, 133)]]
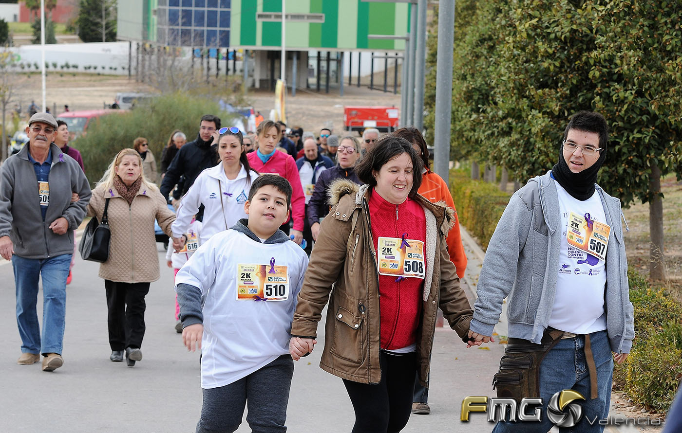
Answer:
[[(561, 227), (559, 195), (550, 172), (536, 176), (509, 199), (490, 238), (478, 280), (470, 329), (490, 336), (507, 301), (509, 337), (539, 344), (548, 326), (559, 275)], [(634, 318), (629, 300), (621, 202), (595, 185), (611, 236), (606, 251), (604, 293), (611, 350), (629, 353)]]

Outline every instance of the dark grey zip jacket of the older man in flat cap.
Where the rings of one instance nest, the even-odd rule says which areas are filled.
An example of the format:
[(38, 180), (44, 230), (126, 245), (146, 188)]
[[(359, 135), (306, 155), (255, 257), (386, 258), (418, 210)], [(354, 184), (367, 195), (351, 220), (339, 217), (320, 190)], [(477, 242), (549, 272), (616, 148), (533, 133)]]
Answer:
[[(85, 217), (90, 186), (75, 159), (50, 144), (50, 204), (45, 221), (38, 202), (38, 179), (29, 161), (29, 144), (9, 157), (0, 168), (0, 237), (10, 236), (14, 254), (26, 259), (46, 259), (74, 252), (74, 230)], [(71, 202), (72, 192), (80, 199)], [(64, 217), (69, 229), (55, 234), (50, 224)]]

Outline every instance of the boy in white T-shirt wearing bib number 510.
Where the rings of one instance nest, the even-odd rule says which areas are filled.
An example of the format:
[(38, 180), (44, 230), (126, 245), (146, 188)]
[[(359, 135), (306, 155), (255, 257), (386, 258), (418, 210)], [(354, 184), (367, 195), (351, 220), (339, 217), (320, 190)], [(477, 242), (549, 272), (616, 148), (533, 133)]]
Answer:
[(279, 230), (290, 207), (288, 180), (259, 176), (244, 205), (248, 219), (214, 235), (177, 273), (183, 342), (202, 353), (196, 432), (234, 432), (247, 402), (253, 432), (286, 432), (288, 341), (308, 267), (306, 253)]

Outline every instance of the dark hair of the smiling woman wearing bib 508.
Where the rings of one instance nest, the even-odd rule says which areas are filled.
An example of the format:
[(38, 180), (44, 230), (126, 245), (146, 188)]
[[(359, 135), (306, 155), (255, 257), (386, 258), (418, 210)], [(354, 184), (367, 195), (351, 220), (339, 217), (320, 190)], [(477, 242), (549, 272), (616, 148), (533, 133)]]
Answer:
[(379, 172), (381, 167), (388, 161), (403, 153), (407, 153), (412, 159), (413, 183), (409, 197), (413, 199), (421, 186), (421, 163), (423, 161), (417, 155), (417, 151), (412, 147), (412, 144), (404, 138), (396, 137), (395, 135), (385, 135), (379, 139), (374, 144), (374, 147), (368, 150), (366, 155), (362, 157), (360, 163), (355, 166), (355, 174), (357, 174), (357, 178), (361, 182), (366, 183), (370, 187), (376, 187), (374, 172)]

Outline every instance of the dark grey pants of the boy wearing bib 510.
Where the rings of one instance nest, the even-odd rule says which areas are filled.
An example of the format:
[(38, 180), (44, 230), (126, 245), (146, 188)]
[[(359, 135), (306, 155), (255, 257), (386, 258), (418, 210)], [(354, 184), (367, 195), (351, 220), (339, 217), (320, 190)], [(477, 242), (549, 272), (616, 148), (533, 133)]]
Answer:
[(224, 387), (203, 389), (201, 419), (196, 433), (232, 433), (239, 428), (248, 402), (246, 421), (253, 433), (286, 432), (294, 362), (281, 355), (267, 366)]

